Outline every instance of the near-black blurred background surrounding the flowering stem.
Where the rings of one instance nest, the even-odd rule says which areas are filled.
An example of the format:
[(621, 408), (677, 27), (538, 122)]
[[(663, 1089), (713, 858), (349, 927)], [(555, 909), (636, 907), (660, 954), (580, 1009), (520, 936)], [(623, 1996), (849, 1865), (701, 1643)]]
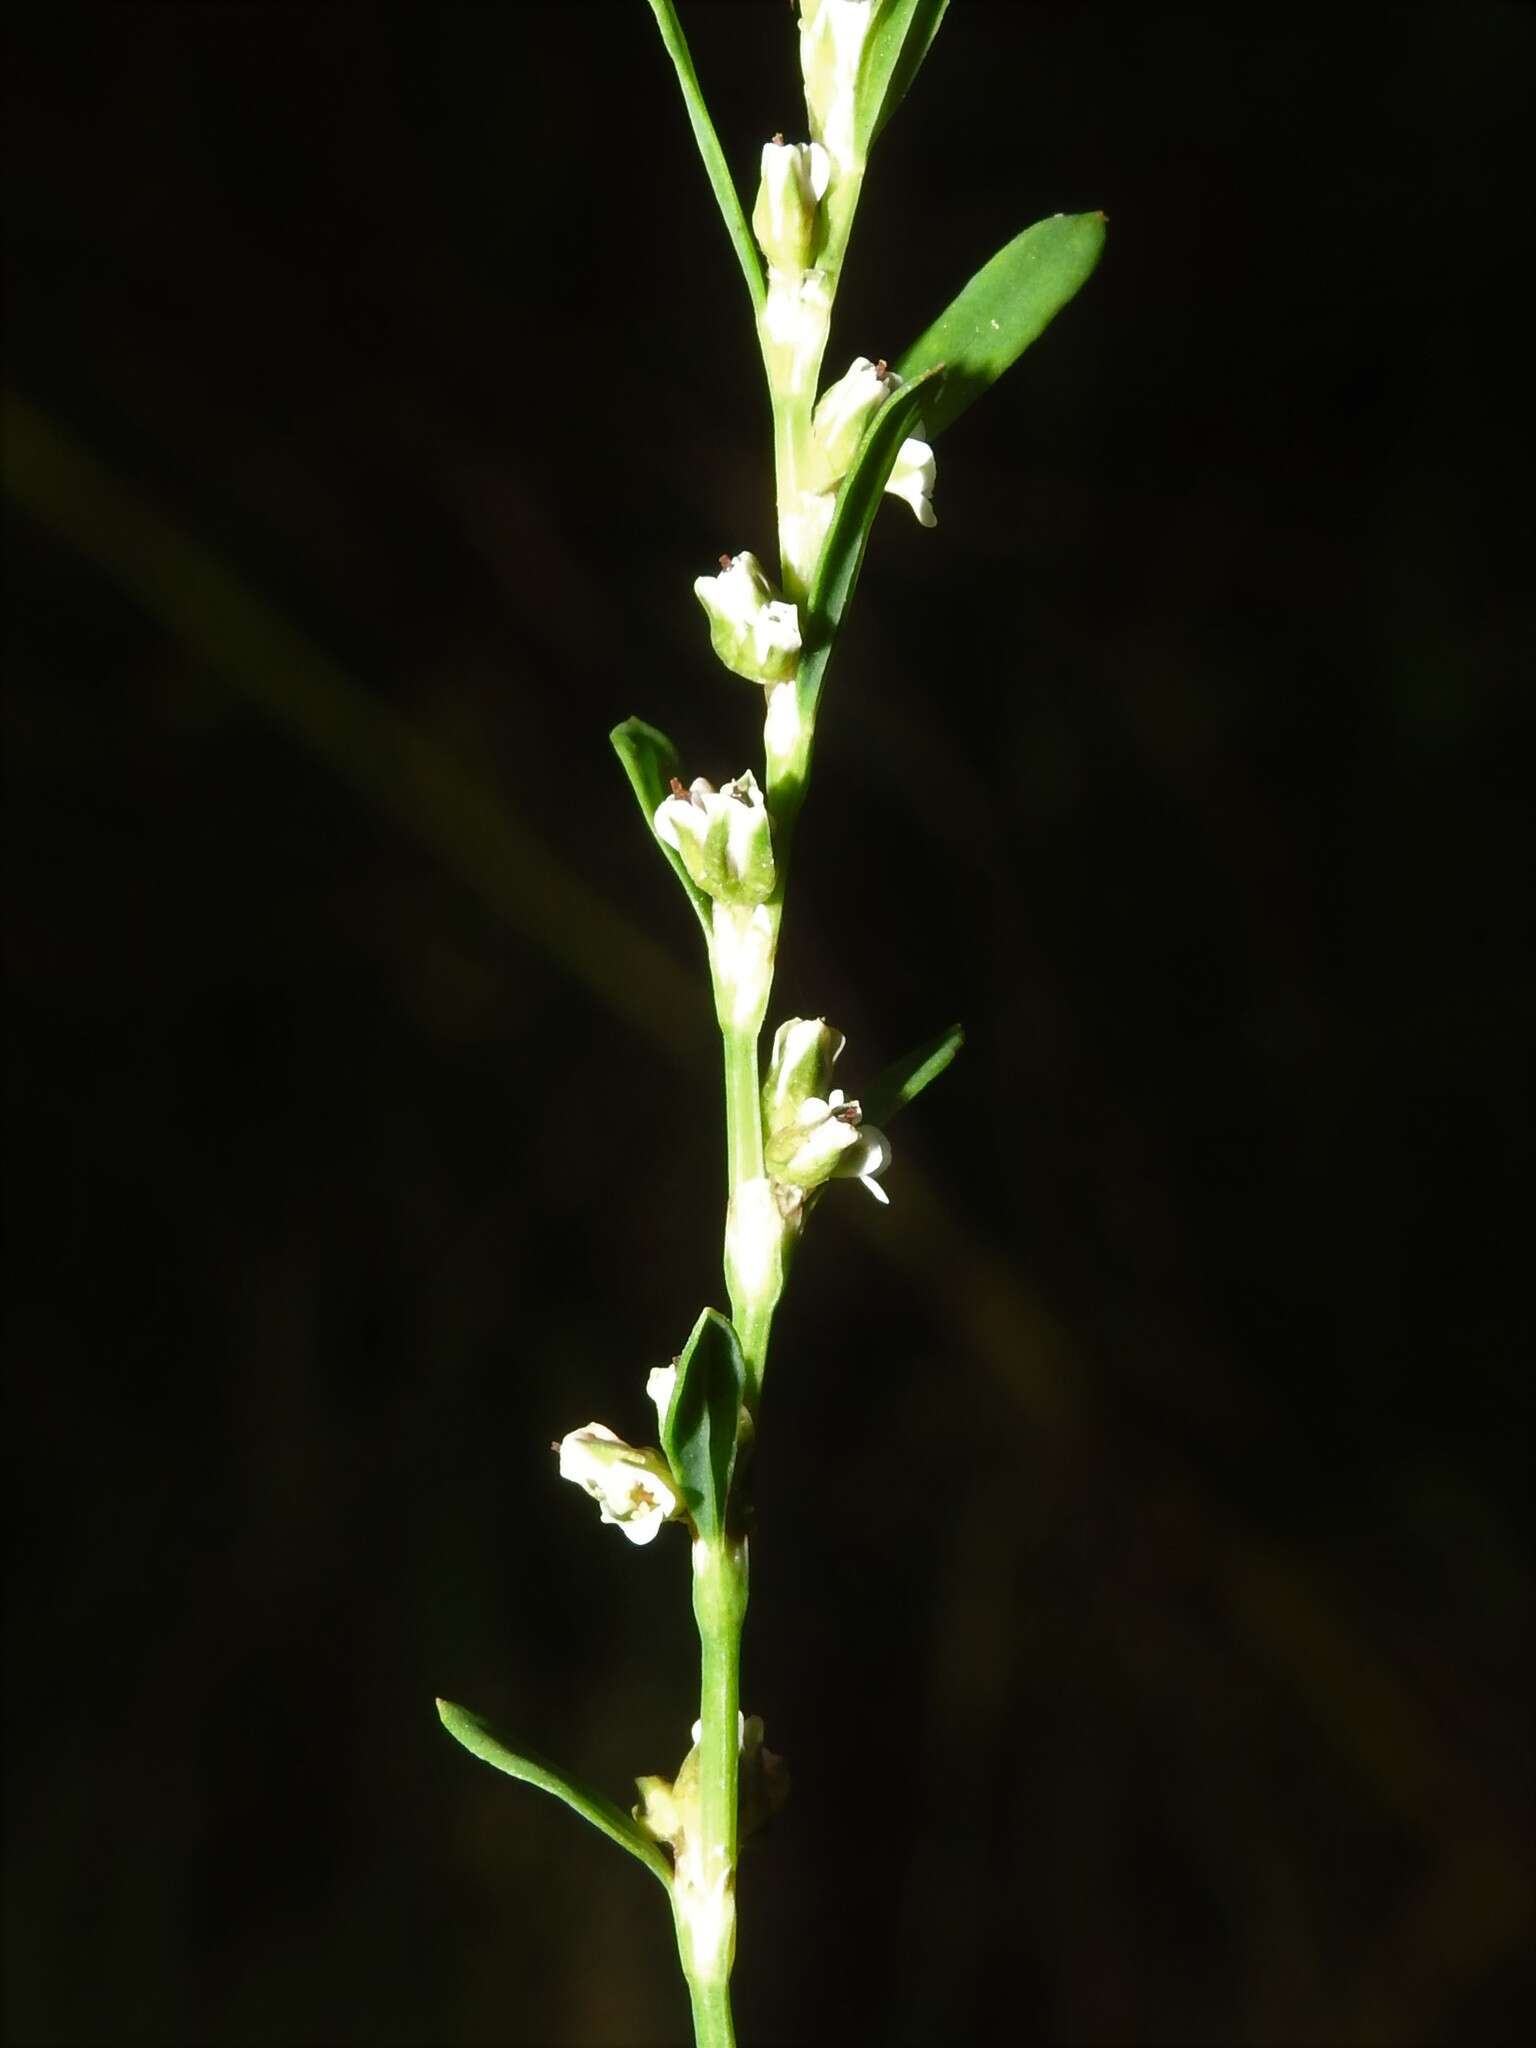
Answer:
[[(684, 8), (733, 166), (782, 0)], [(958, 0), (831, 365), (1100, 274), (877, 526), (776, 1014), (961, 1016), (782, 1315), (745, 2044), (1532, 2015), (1516, 1223), (1536, 18)], [(756, 758), (729, 248), (641, 0), (12, 23), (18, 2048), (659, 2044), (692, 1718), (639, 1434), (717, 1274), (692, 920), (606, 729)]]

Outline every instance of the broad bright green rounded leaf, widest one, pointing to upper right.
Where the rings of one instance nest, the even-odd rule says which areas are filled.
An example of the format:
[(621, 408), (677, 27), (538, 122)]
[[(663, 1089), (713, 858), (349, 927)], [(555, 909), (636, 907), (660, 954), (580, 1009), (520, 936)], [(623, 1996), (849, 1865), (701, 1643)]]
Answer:
[(993, 385), (1087, 283), (1104, 252), (1102, 213), (1055, 213), (997, 250), (907, 352), (903, 377), (944, 365), (928, 393), (924, 432), (932, 440)]

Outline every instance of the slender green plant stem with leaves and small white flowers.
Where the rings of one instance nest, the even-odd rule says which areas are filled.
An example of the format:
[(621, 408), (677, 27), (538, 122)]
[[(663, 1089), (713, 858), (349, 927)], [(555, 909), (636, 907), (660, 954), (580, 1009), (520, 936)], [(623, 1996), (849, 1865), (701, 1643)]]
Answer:
[[(612, 733), (645, 825), (705, 934), (725, 1055), (725, 1288), (678, 1358), (645, 1380), (657, 1444), (602, 1423), (571, 1430), (559, 1470), (633, 1544), (678, 1524), (692, 1559), (702, 1651), (692, 1747), (672, 1778), (637, 1780), (623, 1808), (508, 1749), (446, 1700), (446, 1729), (487, 1763), (553, 1792), (657, 1878), (700, 2044), (733, 2040), (731, 1958), (741, 1841), (782, 1804), (786, 1774), (739, 1706), (752, 1524), (750, 1450), (768, 1333), (807, 1223), (840, 1182), (881, 1202), (885, 1126), (954, 1057), (958, 1026), (897, 1061), (860, 1098), (834, 1085), (842, 1032), (786, 1018), (766, 1071), (760, 1040), (784, 915), (795, 823), (811, 780), (821, 686), (874, 514), (887, 494), (934, 526), (932, 442), (1028, 348), (1094, 270), (1100, 213), (1055, 215), (1001, 248), (897, 356), (856, 356), (823, 385), (838, 295), (870, 150), (911, 86), (948, 0), (801, 0), (809, 139), (762, 150), (752, 217), (721, 154), (672, 0), (649, 0), (752, 301), (774, 420), (778, 582), (750, 549), (694, 584), (715, 655), (764, 700), (764, 764), (719, 784), (684, 780), (672, 741), (627, 719)], [(635, 1389), (639, 1397), (639, 1384)], [(637, 1401), (639, 1407), (639, 1401)]]

